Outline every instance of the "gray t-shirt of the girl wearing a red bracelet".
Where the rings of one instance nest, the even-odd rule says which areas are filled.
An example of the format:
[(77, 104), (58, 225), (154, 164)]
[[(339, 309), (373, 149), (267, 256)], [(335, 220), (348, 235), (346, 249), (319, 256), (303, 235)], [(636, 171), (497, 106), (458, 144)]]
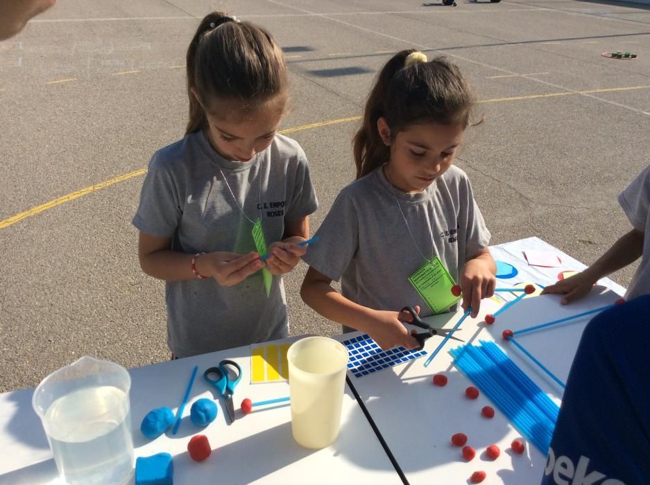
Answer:
[[(264, 152), (239, 162), (221, 157), (198, 132), (153, 155), (133, 224), (172, 238), (178, 252), (246, 254), (255, 251), (247, 217), (262, 218), (268, 246), (282, 239), (285, 219), (317, 208), (307, 158), (296, 141), (278, 134)], [(289, 334), (282, 278), (273, 276), (267, 298), (261, 271), (231, 287), (214, 279), (166, 281), (165, 296), (167, 342), (178, 357)]]

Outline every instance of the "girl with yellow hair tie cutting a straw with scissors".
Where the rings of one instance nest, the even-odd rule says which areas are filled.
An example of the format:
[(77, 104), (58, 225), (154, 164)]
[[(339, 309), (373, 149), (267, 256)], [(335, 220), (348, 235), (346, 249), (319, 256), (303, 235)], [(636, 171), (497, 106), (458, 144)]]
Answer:
[[(474, 97), (445, 58), (401, 51), (370, 92), (354, 136), (357, 180), (343, 188), (303, 258), (302, 299), (321, 315), (361, 330), (382, 349), (418, 346), (400, 308), (424, 317), (462, 306), (476, 317), (492, 296), (490, 232), (467, 175), (453, 165)], [(341, 293), (330, 284), (341, 280)]]

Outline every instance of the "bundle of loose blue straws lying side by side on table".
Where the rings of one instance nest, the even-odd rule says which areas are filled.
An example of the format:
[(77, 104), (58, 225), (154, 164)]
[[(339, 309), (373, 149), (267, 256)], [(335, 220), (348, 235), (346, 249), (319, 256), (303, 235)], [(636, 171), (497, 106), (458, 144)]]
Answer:
[(559, 412), (556, 405), (494, 342), (450, 351), (454, 365), (545, 454)]

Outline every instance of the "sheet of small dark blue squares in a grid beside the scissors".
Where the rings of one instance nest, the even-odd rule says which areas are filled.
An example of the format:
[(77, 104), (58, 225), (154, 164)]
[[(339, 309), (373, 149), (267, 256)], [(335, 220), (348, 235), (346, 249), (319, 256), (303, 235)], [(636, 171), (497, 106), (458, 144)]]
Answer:
[(348, 370), (354, 377), (368, 376), (373, 372), (427, 355), (427, 351), (407, 351), (404, 347), (382, 351), (367, 334), (345, 340), (343, 345), (350, 353)]

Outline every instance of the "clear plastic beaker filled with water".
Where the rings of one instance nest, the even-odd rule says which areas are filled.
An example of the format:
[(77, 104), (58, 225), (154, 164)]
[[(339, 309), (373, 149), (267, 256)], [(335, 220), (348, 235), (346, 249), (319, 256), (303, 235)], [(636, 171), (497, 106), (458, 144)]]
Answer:
[(128, 482), (133, 473), (130, 387), (131, 376), (119, 364), (85, 355), (35, 389), (32, 406), (65, 483)]

